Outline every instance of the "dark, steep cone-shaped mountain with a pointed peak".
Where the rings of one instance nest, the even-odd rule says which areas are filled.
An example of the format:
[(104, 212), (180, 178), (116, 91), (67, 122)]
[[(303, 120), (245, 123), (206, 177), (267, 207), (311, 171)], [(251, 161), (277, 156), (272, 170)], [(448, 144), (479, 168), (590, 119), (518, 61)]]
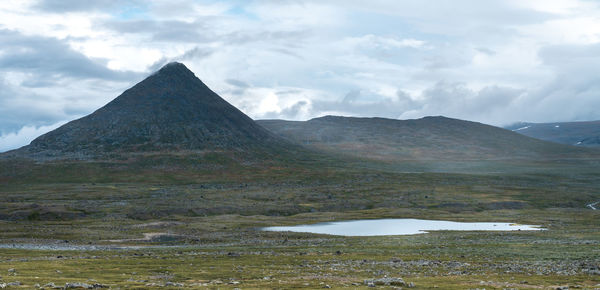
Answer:
[(181, 63), (169, 63), (94, 113), (40, 136), (21, 153), (248, 150), (285, 144), (211, 91)]

